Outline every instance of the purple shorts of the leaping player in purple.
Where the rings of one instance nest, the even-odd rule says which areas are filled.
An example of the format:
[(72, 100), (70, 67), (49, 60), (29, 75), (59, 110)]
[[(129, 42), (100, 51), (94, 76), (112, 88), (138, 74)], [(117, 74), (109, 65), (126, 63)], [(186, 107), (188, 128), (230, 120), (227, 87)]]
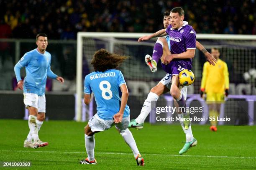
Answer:
[(167, 65), (163, 63), (161, 63), (161, 65), (166, 73), (172, 74), (174, 76), (179, 75), (179, 72), (181, 72), (182, 70), (192, 69), (191, 61), (185, 61), (185, 60), (174, 60)]

